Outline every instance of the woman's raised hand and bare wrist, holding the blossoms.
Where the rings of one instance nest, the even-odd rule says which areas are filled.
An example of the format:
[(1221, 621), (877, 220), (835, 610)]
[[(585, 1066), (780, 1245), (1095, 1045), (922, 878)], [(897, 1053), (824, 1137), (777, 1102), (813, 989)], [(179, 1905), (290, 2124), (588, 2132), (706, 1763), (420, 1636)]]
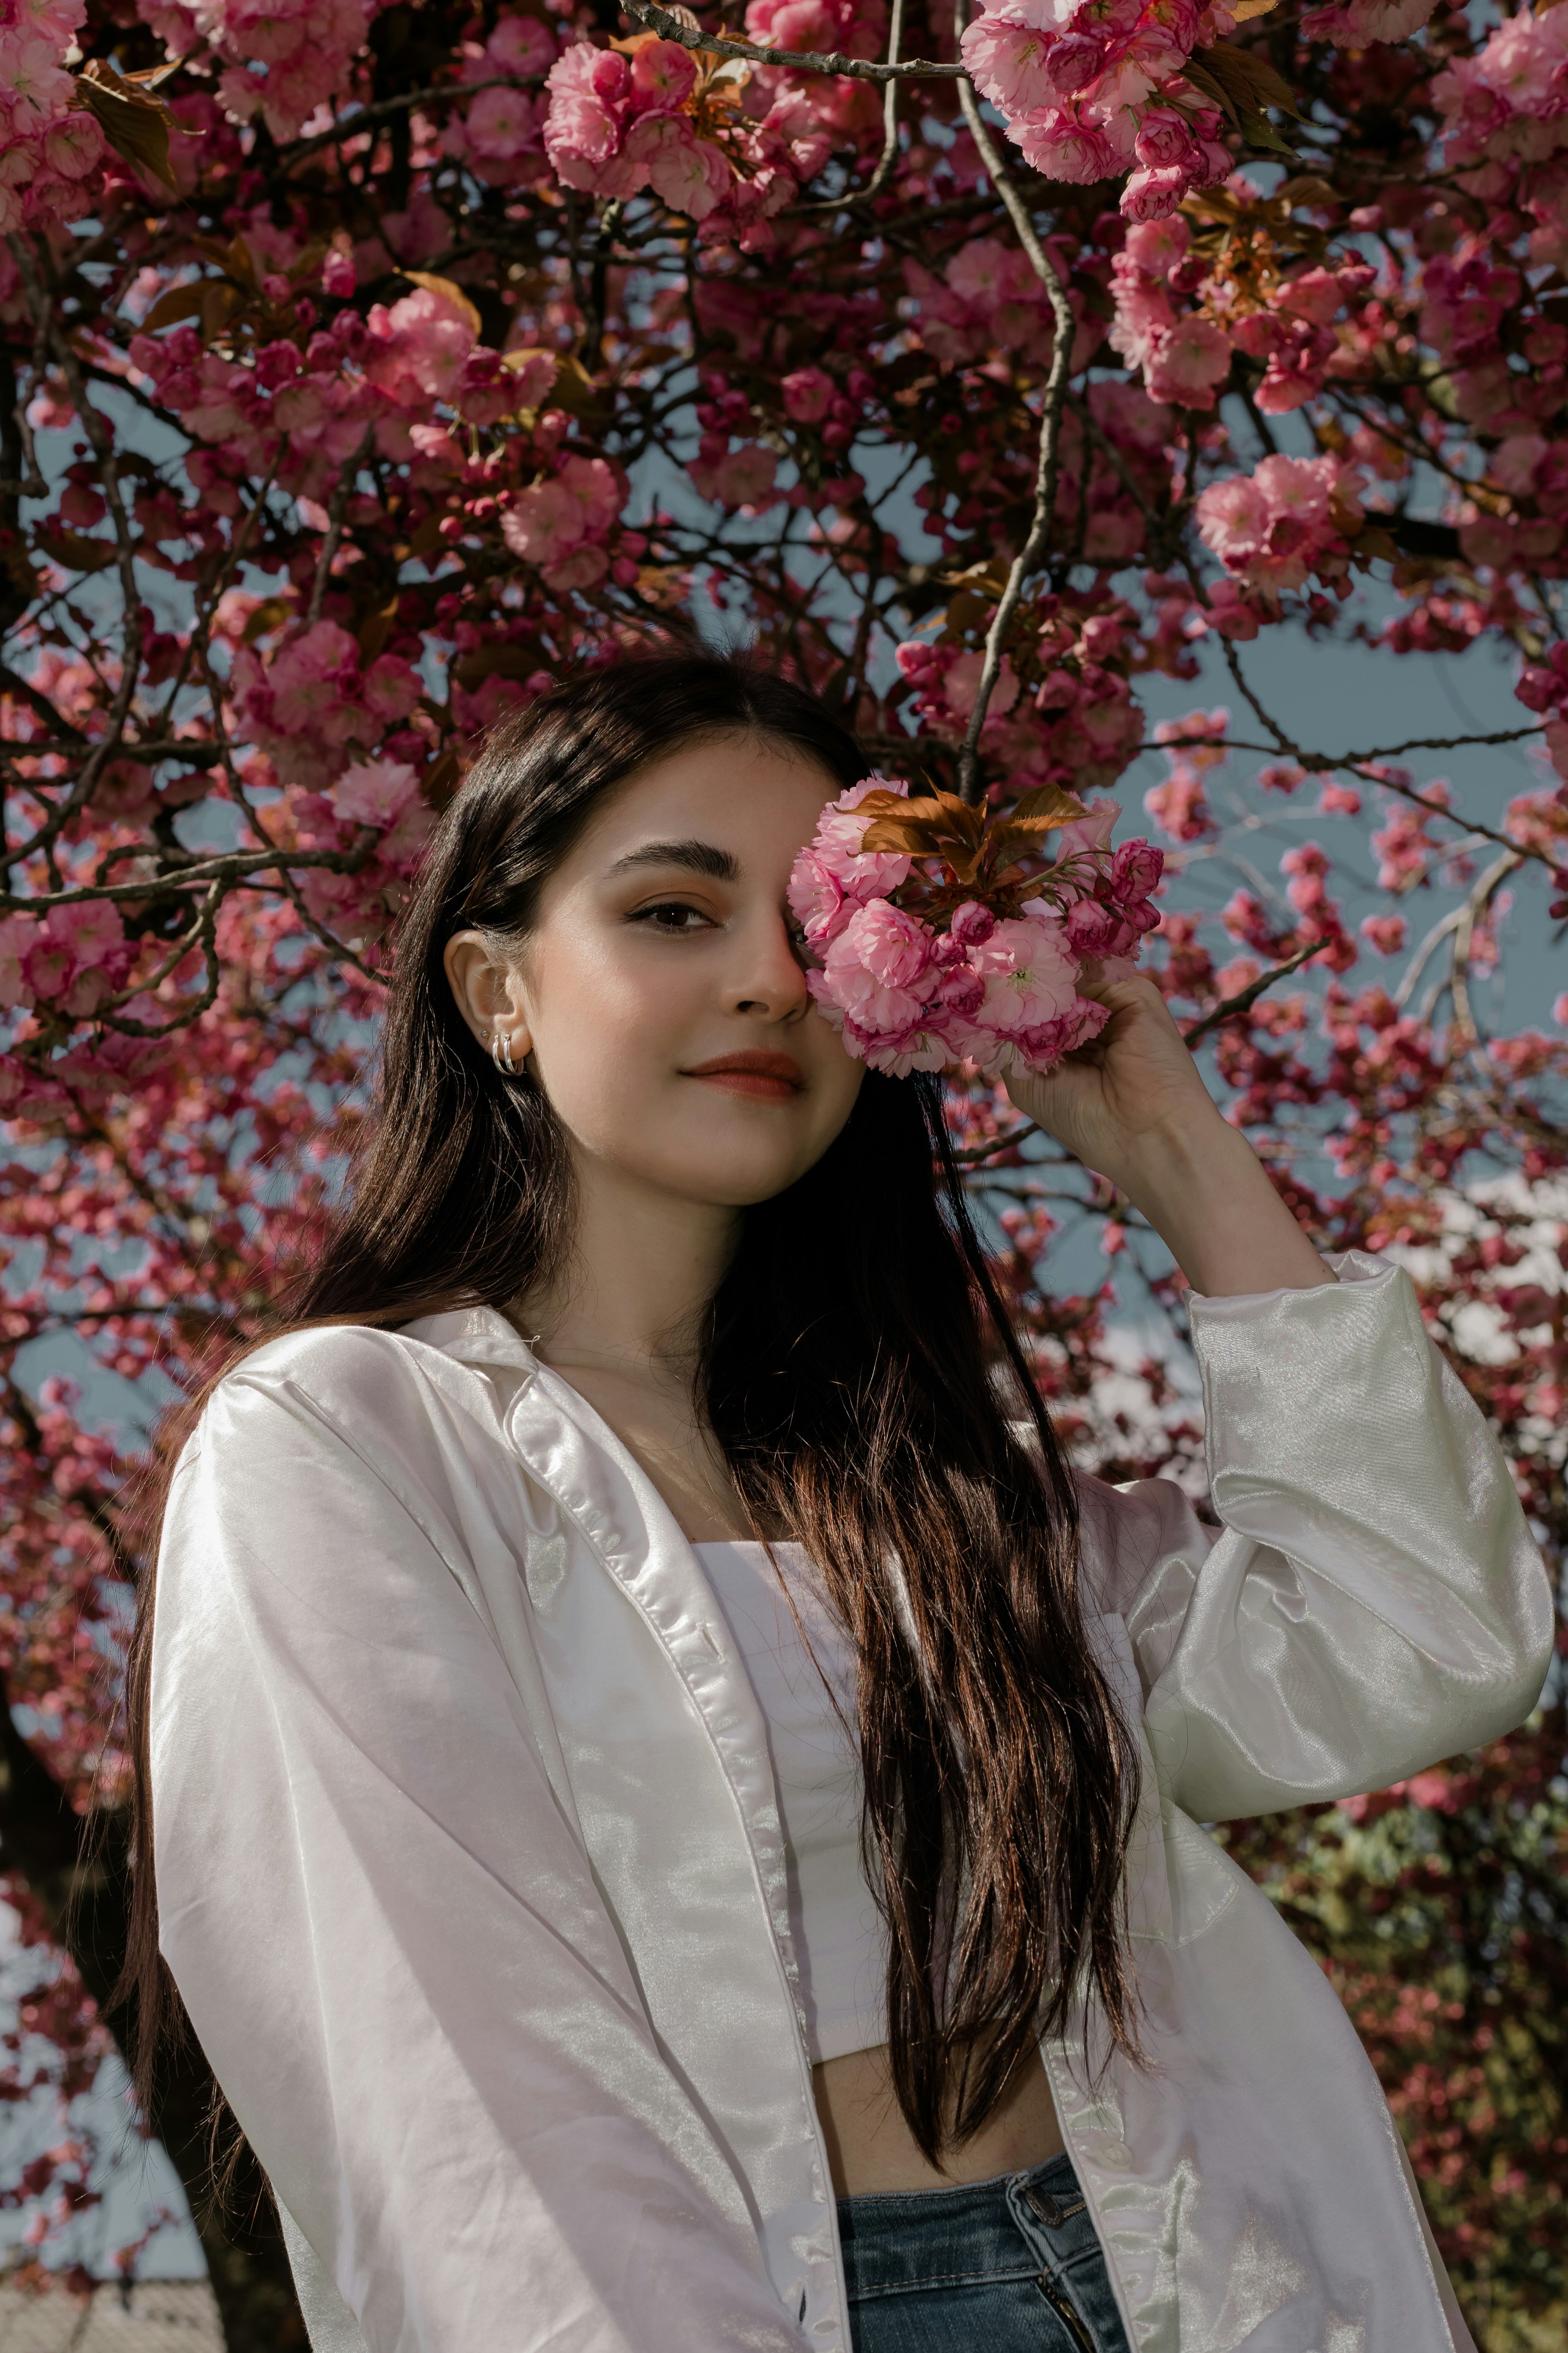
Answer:
[(1110, 1007), (1110, 1021), (1048, 1075), (1013, 1075), (1018, 1111), (1126, 1193), (1197, 1292), (1333, 1282), (1246, 1136), (1220, 1115), (1159, 986), (1133, 972), (1079, 988)]

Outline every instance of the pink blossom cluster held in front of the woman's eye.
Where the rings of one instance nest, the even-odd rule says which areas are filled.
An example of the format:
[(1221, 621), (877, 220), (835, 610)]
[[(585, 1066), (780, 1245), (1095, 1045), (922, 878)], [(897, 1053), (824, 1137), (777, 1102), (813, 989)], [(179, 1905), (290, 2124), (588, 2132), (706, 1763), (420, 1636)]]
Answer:
[(851, 1054), (905, 1078), (969, 1061), (992, 1078), (1013, 1068), (1048, 1071), (1105, 1026), (1105, 1007), (1079, 993), (1084, 962), (1126, 960), (1154, 927), (1150, 894), (1161, 852), (1124, 842), (1110, 854), (1114, 802), (1098, 802), (1060, 831), (1058, 859), (1039, 896), (1006, 899), (997, 915), (983, 899), (959, 899), (947, 920), (898, 904), (912, 878), (931, 889), (931, 861), (863, 849), (870, 793), (903, 793), (900, 779), (870, 776), (839, 793), (790, 878), (790, 908), (818, 958), (806, 986), (842, 1031)]

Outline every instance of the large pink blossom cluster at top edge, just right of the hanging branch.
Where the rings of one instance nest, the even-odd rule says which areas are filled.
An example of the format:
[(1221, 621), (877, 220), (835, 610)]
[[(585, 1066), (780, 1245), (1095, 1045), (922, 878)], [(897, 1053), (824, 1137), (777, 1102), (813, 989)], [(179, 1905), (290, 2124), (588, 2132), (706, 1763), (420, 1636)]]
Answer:
[(1222, 115), (1180, 78), (1229, 26), (1197, 0), (990, 0), (961, 52), (1025, 162), (1067, 181), (1131, 172), (1121, 212), (1159, 221), (1229, 174)]

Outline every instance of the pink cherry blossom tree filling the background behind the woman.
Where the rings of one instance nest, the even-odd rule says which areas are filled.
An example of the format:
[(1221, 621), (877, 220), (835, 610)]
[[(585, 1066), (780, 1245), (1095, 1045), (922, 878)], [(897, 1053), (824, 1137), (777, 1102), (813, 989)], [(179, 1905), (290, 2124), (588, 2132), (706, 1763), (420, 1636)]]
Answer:
[[(1406, 1259), (1561, 1565), (1568, 9), (0, 0), (0, 1861), (40, 1962), (0, 2097), (61, 2118), (0, 2198), (40, 2264), (127, 2031), (146, 1433), (308, 1254), (433, 816), (571, 664), (743, 638), (945, 812), (926, 847), (1053, 812), (1023, 871), (1103, 875), (1074, 955), (1159, 918), (1227, 1113), (1324, 1247)], [(1420, 656), (1512, 699), (1347, 741), (1347, 645), (1389, 711)], [(1180, 1278), (961, 1059), (990, 939), (933, 1054), (997, 1266), (1079, 1457), (1199, 1489)], [(66, 1362), (129, 1384), (118, 1433)], [(1568, 2327), (1566, 1732), (1554, 1685), (1215, 1833), (1363, 2031), (1488, 2353)], [(207, 2195), (195, 2054), (146, 2125), (228, 2344), (301, 2344), (261, 2184)]]

